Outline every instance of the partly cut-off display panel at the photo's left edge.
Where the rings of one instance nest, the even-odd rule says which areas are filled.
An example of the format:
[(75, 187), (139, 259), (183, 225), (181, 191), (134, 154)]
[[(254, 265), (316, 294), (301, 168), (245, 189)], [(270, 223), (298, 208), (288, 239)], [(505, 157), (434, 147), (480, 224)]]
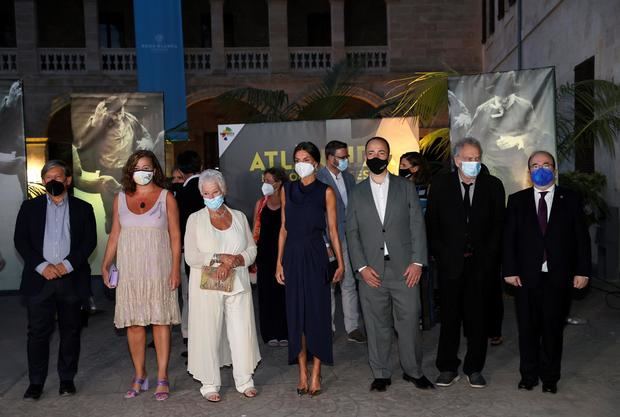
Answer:
[(0, 80), (0, 291), (16, 290), (23, 265), (13, 246), (15, 218), (26, 196), (21, 81)]

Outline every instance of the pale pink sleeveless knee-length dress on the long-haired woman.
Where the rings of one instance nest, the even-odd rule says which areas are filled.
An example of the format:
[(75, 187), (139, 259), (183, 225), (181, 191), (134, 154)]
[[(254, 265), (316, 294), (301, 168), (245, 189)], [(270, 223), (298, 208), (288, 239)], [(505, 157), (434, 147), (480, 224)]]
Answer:
[(172, 250), (166, 212), (167, 190), (153, 207), (135, 214), (118, 194), (121, 232), (116, 250), (119, 279), (116, 287), (114, 325), (148, 326), (179, 324), (177, 290), (170, 291)]

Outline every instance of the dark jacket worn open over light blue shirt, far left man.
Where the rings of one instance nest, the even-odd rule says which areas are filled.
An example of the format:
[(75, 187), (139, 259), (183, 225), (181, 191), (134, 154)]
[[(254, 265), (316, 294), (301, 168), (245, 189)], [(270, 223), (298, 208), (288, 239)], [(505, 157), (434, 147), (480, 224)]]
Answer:
[[(93, 207), (79, 198), (68, 196), (69, 228), (71, 248), (67, 260), (73, 272), (58, 279), (69, 279), (83, 299), (90, 296), (90, 265), (88, 257), (97, 246), (97, 228)], [(15, 248), (24, 260), (20, 291), (23, 295), (36, 295), (45, 278), (35, 268), (42, 262), (43, 238), (45, 236), (45, 217), (47, 196), (42, 195), (22, 203), (15, 222)]]

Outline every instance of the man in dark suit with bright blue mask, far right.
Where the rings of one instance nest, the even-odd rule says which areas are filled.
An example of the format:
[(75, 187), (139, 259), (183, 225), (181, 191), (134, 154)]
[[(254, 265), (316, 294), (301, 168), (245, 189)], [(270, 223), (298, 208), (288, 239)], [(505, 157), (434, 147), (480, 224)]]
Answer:
[(555, 158), (528, 159), (533, 187), (508, 198), (504, 280), (517, 288), (521, 381), (555, 394), (571, 287), (584, 288), (592, 268), (590, 236), (580, 199), (555, 185)]

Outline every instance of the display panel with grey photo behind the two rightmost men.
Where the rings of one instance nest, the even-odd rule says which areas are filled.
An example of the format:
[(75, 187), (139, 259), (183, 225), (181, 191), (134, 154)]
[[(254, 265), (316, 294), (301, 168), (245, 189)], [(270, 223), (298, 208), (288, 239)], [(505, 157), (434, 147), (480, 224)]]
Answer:
[(451, 140), (480, 140), (506, 195), (529, 186), (531, 152), (556, 154), (553, 68), (450, 77), (448, 98)]

